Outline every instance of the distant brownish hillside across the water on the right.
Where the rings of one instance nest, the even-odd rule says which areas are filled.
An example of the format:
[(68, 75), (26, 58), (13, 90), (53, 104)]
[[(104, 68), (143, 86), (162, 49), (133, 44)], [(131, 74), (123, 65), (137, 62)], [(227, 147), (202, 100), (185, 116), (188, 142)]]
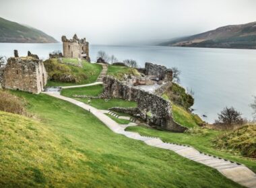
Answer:
[(162, 42), (158, 45), (256, 49), (256, 21), (242, 25), (224, 26), (209, 32)]

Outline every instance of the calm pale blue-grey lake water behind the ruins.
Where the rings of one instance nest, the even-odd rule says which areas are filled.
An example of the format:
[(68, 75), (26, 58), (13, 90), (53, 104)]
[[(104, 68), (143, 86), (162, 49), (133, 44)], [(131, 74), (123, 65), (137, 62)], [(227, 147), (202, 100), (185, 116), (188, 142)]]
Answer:
[[(0, 55), (13, 56), (14, 49), (26, 55), (30, 50), (45, 59), (49, 52), (61, 48), (61, 44), (0, 43)], [(252, 118), (249, 104), (256, 95), (256, 50), (91, 45), (93, 61), (98, 50), (115, 54), (120, 61), (133, 58), (140, 66), (145, 62), (177, 66), (181, 85), (195, 92), (195, 112), (207, 115), (207, 122), (213, 122), (225, 106), (234, 106), (245, 118)]]

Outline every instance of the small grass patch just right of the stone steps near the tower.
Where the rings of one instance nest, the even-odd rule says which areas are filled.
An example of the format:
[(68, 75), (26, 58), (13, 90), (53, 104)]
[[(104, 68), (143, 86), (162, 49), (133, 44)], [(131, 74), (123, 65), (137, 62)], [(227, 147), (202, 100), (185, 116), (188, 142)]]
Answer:
[(139, 72), (135, 68), (129, 68), (127, 66), (108, 65), (107, 75), (122, 80), (124, 75), (139, 76)]

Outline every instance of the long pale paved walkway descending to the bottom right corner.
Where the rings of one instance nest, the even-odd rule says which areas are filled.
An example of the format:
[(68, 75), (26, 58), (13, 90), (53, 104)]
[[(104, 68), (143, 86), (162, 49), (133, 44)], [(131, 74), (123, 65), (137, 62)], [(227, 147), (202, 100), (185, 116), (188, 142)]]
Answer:
[(149, 136), (141, 136), (138, 133), (135, 132), (128, 132), (125, 131), (125, 128), (127, 126), (120, 126), (109, 118), (104, 112), (100, 109), (96, 109), (95, 107), (92, 107), (90, 105), (87, 105), (86, 103), (82, 103), (80, 101), (77, 101), (75, 99), (71, 99), (69, 97), (64, 97), (62, 95), (59, 95), (58, 93), (54, 92), (44, 92), (47, 95), (51, 95), (53, 97), (56, 97), (58, 99), (63, 99), (65, 101), (69, 101), (70, 103), (73, 103), (79, 107), (82, 107), (83, 109), (90, 110), (90, 112), (95, 115), (101, 122), (103, 122), (110, 130), (117, 134), (123, 134), (124, 136), (127, 136), (128, 138), (132, 138), (135, 140), (141, 140), (145, 142), (146, 144), (150, 146), (154, 146), (157, 148), (163, 148), (166, 150), (172, 150), (176, 152), (177, 154), (184, 156), (185, 158), (189, 158), (191, 160), (194, 160), (196, 162), (199, 162), (201, 164), (205, 164), (208, 167), (212, 167), (214, 169), (217, 169), (222, 175), (226, 176), (229, 179), (232, 179), (236, 183), (240, 183), (241, 185), (244, 185), (245, 187), (250, 188), (256, 188), (256, 175), (245, 167), (243, 164), (237, 164), (236, 162), (231, 162), (229, 160), (225, 160), (223, 158), (218, 158), (216, 156), (211, 156), (209, 154), (203, 154), (196, 150), (195, 148), (191, 146), (186, 145), (179, 145), (179, 144), (171, 144), (171, 143), (165, 143), (162, 142), (159, 138), (153, 138)]

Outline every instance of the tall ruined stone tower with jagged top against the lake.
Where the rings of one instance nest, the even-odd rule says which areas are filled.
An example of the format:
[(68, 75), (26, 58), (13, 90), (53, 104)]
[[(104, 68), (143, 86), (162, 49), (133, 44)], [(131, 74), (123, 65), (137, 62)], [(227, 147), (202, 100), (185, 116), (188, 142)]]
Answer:
[(68, 40), (66, 36), (62, 36), (63, 42), (63, 56), (65, 58), (85, 58), (90, 62), (89, 56), (89, 42), (86, 38), (79, 39), (75, 34), (73, 39)]

